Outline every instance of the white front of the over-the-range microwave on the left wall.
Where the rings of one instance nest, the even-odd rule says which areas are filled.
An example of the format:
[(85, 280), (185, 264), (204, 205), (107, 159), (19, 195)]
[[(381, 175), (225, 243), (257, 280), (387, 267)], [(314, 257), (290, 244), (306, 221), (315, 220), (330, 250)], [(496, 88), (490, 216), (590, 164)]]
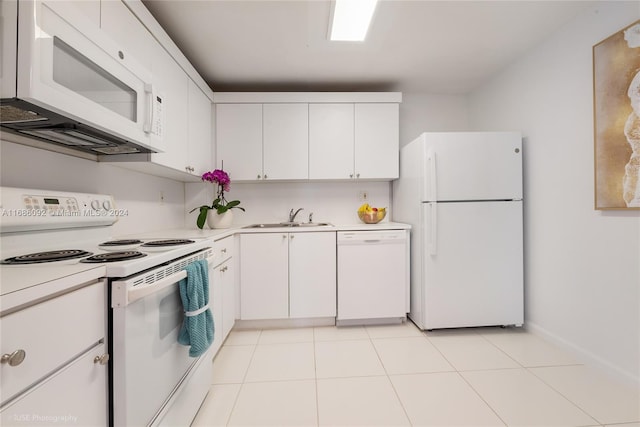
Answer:
[(19, 2), (16, 97), (163, 151), (150, 71), (66, 3)]

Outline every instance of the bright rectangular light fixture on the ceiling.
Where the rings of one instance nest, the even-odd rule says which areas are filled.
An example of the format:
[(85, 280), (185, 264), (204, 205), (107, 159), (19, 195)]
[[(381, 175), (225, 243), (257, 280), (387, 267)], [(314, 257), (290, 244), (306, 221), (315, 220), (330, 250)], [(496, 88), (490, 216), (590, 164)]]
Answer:
[(364, 41), (378, 0), (335, 0), (329, 39)]

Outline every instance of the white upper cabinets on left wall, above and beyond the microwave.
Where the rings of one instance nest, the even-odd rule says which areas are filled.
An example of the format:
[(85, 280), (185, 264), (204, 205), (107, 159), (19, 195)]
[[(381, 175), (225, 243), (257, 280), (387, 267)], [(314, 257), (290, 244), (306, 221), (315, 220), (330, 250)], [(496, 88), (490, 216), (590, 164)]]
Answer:
[[(117, 166), (181, 181), (199, 181), (214, 168), (211, 95), (188, 74), (181, 53), (141, 3), (89, 0), (100, 4), (100, 27), (124, 53), (150, 70), (154, 93), (162, 97), (161, 153), (113, 157)], [(135, 12), (134, 12), (135, 10)], [(152, 34), (151, 31), (156, 31)], [(160, 40), (160, 41), (159, 41)], [(161, 43), (162, 41), (162, 43)], [(188, 64), (187, 64), (188, 65)], [(128, 156), (128, 155), (127, 155)], [(124, 162), (119, 162), (125, 160)]]

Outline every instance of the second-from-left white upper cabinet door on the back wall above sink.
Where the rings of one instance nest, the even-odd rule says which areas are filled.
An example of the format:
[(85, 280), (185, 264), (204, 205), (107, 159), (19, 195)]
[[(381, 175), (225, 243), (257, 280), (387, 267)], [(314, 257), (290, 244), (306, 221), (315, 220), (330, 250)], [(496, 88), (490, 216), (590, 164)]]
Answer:
[(264, 104), (265, 179), (309, 177), (309, 105)]

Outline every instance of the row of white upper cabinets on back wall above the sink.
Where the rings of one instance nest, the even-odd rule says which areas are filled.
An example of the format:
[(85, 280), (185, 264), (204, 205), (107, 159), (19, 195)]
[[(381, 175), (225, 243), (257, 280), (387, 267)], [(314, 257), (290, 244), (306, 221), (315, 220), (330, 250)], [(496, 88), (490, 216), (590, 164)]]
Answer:
[(218, 166), (233, 163), (235, 179), (399, 176), (400, 93), (218, 92), (213, 99)]

